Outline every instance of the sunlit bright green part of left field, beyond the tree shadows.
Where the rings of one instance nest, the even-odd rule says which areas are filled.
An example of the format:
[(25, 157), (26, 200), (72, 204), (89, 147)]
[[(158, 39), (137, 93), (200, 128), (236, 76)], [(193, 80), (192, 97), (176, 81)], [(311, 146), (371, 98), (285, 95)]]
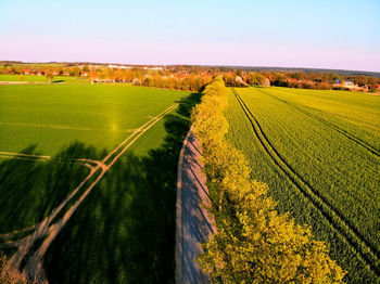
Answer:
[(183, 95), (107, 85), (0, 86), (0, 151), (52, 155), (79, 141), (114, 149)]

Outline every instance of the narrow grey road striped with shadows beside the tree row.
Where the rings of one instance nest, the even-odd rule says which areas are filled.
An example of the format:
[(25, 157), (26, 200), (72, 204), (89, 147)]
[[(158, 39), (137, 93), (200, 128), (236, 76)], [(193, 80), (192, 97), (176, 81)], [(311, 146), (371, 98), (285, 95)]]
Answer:
[(202, 172), (199, 141), (189, 131), (179, 157), (177, 183), (176, 283), (207, 283), (194, 261), (204, 243), (216, 232), (205, 209), (210, 205), (206, 177)]

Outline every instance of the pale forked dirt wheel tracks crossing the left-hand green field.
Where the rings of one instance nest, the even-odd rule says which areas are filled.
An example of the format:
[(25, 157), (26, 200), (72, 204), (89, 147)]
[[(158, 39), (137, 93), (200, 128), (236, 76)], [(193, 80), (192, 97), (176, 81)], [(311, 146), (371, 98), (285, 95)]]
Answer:
[[(94, 185), (99, 182), (99, 180), (104, 176), (104, 173), (116, 163), (116, 160), (151, 127), (153, 127), (157, 121), (160, 121), (165, 115), (170, 113), (174, 108), (176, 108), (178, 104), (173, 104), (164, 112), (159, 114), (157, 116), (150, 119), (139, 129), (137, 129), (131, 135), (125, 139), (116, 149), (114, 149), (111, 153), (109, 153), (101, 162), (90, 160), (90, 159), (77, 159), (76, 162), (86, 163), (85, 165), (90, 167), (90, 173), (81, 181), (81, 183), (56, 207), (52, 210), (50, 216), (48, 216), (43, 221), (37, 223), (34, 227), (29, 227), (23, 230), (14, 231), (8, 234), (0, 235), (0, 248), (1, 247), (15, 247), (17, 248), (16, 253), (11, 257), (7, 266), (13, 269), (20, 269), (22, 262), (25, 263), (24, 271), (30, 277), (34, 277), (37, 281), (45, 280), (45, 272), (42, 268), (42, 257), (45, 253), (48, 250), (50, 244), (60, 233), (60, 231), (64, 228), (67, 221), (71, 219), (75, 210), (79, 207), (79, 205), (84, 202), (84, 199), (88, 196)], [(131, 140), (131, 141), (130, 141)], [(129, 142), (129, 143), (127, 143)], [(96, 166), (91, 166), (90, 164), (94, 164)], [(99, 176), (91, 182), (92, 177), (99, 172)], [(83, 189), (85, 184), (91, 182), (86, 189)], [(78, 196), (80, 194), (80, 196)], [(78, 196), (78, 197), (77, 197)], [(62, 218), (52, 223), (58, 215), (65, 208), (71, 201), (77, 197), (75, 203), (67, 208), (66, 212)], [(13, 236), (18, 233), (31, 231), (25, 237), (21, 240), (10, 241)], [(36, 246), (36, 241), (41, 240), (41, 244), (38, 244), (37, 248), (34, 251), (30, 251), (31, 247)]]

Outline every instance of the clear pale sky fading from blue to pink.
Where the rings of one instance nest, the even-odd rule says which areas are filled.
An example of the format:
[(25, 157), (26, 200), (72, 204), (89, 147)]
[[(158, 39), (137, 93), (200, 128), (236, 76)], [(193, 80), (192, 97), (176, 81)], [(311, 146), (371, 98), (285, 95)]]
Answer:
[(380, 72), (380, 0), (0, 0), (0, 61)]

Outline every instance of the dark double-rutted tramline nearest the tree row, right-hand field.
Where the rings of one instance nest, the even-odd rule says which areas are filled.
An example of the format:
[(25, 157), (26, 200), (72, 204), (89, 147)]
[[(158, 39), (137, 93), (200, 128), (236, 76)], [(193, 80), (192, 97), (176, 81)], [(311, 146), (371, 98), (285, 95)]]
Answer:
[(379, 276), (380, 268), (378, 249), (368, 243), (355, 227), (351, 225), (350, 222), (332, 205), (330, 205), (316, 190), (314, 190), (300, 175), (297, 175), (290, 165), (288, 165), (288, 163), (268, 141), (257, 119), (253, 116), (239, 93), (233, 88), (231, 88), (231, 90), (246, 118), (250, 120), (259, 144), (263, 146), (265, 153), (274, 162), (280, 172), (282, 172), (316, 207), (316, 209), (320, 211), (320, 214), (331, 224), (332, 229), (346, 241), (353, 251), (357, 253), (357, 255)]

